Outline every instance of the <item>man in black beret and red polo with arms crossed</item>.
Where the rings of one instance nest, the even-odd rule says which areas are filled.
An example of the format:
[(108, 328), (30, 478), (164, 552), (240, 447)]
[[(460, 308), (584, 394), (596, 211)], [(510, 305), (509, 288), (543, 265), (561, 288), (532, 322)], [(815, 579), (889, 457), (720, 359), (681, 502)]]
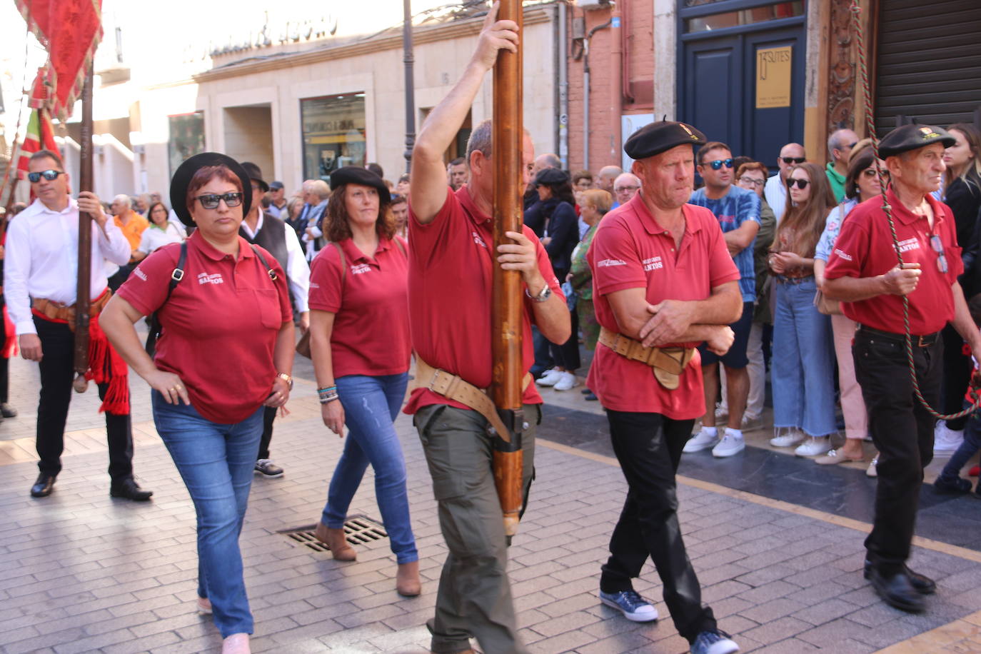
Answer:
[(587, 385), (599, 397), (613, 450), (630, 487), (610, 538), (599, 597), (635, 622), (657, 611), (633, 587), (648, 558), (664, 601), (695, 654), (739, 649), (701, 604), (678, 525), (675, 473), (704, 414), (696, 346), (723, 355), (743, 312), (739, 272), (711, 211), (686, 204), (695, 185), (694, 145), (684, 123), (660, 122), (624, 146), (641, 191), (603, 218), (587, 261), (601, 330)]

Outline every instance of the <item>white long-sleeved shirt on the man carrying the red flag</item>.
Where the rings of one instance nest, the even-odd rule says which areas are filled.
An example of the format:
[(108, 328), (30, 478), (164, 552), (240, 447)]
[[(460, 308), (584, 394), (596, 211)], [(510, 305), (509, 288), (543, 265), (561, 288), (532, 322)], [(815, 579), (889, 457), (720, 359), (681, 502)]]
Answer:
[[(89, 288), (97, 298), (108, 285), (105, 262), (129, 263), (129, 241), (113, 220), (105, 232), (95, 221), (92, 228), (92, 265)], [(78, 283), (78, 203), (57, 212), (40, 200), (7, 226), (4, 256), (4, 297), (18, 335), (37, 333), (30, 313), (31, 298), (75, 304)]]

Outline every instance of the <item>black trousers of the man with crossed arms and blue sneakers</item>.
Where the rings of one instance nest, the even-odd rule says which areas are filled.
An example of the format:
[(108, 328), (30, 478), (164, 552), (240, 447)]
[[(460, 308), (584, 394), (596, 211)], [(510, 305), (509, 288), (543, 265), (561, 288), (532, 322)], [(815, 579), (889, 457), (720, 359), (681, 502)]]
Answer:
[(678, 525), (675, 474), (695, 421), (609, 410), (606, 418), (630, 490), (610, 538), (610, 558), (602, 568), (599, 589), (632, 589), (631, 579), (640, 577), (650, 557), (675, 629), (693, 642), (701, 631), (715, 629), (712, 610), (701, 604), (701, 589)]

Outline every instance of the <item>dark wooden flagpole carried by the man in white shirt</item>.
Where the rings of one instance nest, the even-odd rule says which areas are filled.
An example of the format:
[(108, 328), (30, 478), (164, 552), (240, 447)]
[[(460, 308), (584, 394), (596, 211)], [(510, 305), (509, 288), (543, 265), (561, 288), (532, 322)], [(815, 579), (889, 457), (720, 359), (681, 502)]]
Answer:
[[(78, 155), (78, 190), (92, 190), (92, 65), (85, 72), (81, 89), (81, 142)], [(92, 302), (92, 221), (93, 217), (78, 212), (78, 290), (75, 311), (75, 389), (85, 389), (83, 379), (88, 370), (88, 323)]]

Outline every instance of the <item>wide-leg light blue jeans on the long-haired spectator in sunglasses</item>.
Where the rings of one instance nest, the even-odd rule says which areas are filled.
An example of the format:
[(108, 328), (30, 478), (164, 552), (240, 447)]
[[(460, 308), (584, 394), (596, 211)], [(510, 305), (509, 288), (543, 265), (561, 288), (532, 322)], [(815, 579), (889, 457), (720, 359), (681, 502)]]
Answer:
[(813, 277), (777, 282), (773, 317), (773, 426), (825, 436), (835, 428), (831, 320), (814, 306)]

